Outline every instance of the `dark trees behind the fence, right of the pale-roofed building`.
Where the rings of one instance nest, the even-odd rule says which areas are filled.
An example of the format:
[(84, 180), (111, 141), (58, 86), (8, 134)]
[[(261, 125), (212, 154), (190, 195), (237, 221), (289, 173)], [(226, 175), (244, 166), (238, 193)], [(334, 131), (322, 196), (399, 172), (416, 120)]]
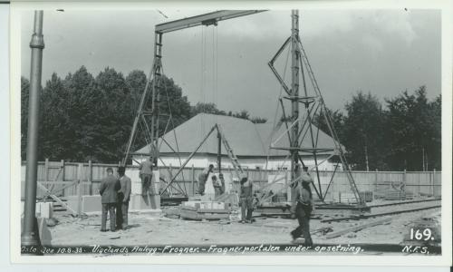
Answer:
[[(327, 110), (353, 170), (441, 170), (441, 96), (429, 101), (425, 86), (382, 104), (357, 92), (345, 112)], [(313, 121), (329, 133), (325, 119)]]

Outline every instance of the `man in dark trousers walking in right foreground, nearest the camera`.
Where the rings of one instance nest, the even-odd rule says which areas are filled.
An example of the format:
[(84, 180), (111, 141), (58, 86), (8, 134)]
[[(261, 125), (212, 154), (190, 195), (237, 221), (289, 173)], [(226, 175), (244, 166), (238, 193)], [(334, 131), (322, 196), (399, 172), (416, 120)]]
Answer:
[(310, 188), (310, 183), (312, 182), (313, 180), (308, 174), (308, 168), (304, 167), (302, 178), (295, 187), (295, 196), (291, 207), (292, 217), (297, 218), (299, 221), (299, 227), (291, 231), (291, 236), (295, 241), (295, 239), (304, 235), (304, 246), (306, 247), (313, 246), (313, 240), (310, 235), (310, 216), (313, 211), (313, 195)]

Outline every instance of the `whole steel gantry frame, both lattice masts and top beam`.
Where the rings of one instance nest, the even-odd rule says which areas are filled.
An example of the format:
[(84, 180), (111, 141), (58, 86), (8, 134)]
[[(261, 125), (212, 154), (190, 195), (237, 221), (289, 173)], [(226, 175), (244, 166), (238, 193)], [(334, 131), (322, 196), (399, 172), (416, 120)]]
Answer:
[[(147, 142), (149, 141), (149, 156), (151, 157), (155, 166), (158, 165), (159, 158), (159, 102), (160, 102), (160, 91), (162, 90), (162, 76), (163, 76), (163, 69), (162, 69), (162, 35), (174, 32), (182, 29), (186, 29), (189, 27), (195, 27), (198, 25), (217, 25), (217, 22), (232, 19), (244, 15), (253, 15), (256, 13), (263, 12), (264, 10), (222, 10), (213, 13), (208, 13), (205, 15), (197, 15), (192, 16), (176, 21), (171, 21), (168, 23), (163, 24), (156, 24), (155, 26), (155, 46), (154, 46), (154, 61), (152, 65), (151, 72), (149, 73), (149, 79), (145, 86), (145, 90), (142, 93), (139, 109), (137, 111), (136, 117), (134, 119), (132, 130), (130, 132), (130, 139), (128, 141), (127, 149), (125, 152), (124, 159), (122, 160), (122, 164), (126, 165), (127, 161), (130, 157), (130, 149), (133, 146), (135, 138), (137, 137), (137, 131), (141, 127), (144, 130), (145, 134), (147, 134)], [(316, 176), (318, 180), (318, 184), (313, 184), (313, 189), (315, 189), (316, 194), (319, 199), (324, 199), (327, 191), (323, 193), (321, 187), (321, 181), (319, 176), (319, 169), (318, 166), (325, 160), (318, 162), (318, 154), (332, 152), (334, 155), (338, 155), (340, 158), (343, 167), (346, 170), (346, 175), (351, 185), (352, 192), (354, 194), (355, 199), (360, 205), (364, 205), (364, 202), (361, 199), (359, 190), (355, 184), (355, 181), (352, 178), (351, 170), (347, 163), (347, 160), (344, 156), (344, 152), (342, 151), (342, 146), (338, 141), (338, 136), (336, 131), (333, 128), (332, 120), (327, 113), (327, 108), (325, 103), (323, 102), (323, 96), (319, 90), (318, 84), (316, 79), (314, 78), (313, 70), (308, 62), (308, 58), (304, 51), (304, 47), (302, 46), (301, 40), (299, 38), (299, 12), (298, 10), (292, 11), (292, 27), (291, 27), (291, 36), (284, 41), (284, 44), (280, 47), (280, 49), (275, 53), (275, 56), (271, 59), (268, 63), (270, 69), (275, 74), (278, 82), (281, 84), (284, 92), (287, 94), (284, 97), (280, 98), (280, 104), (282, 106), (283, 115), (284, 115), (284, 124), (286, 126), (286, 130), (284, 133), (287, 134), (290, 146), (289, 147), (275, 147), (271, 146), (273, 149), (281, 149), (289, 151), (291, 157), (291, 179), (296, 180), (296, 173), (294, 171), (295, 164), (299, 161), (304, 165), (304, 161), (301, 158), (300, 153), (310, 153), (313, 154), (313, 158), (315, 161), (314, 169), (316, 171)], [(288, 86), (284, 83), (284, 78), (276, 71), (274, 63), (280, 56), (280, 54), (284, 51), (284, 49), (290, 46), (292, 60), (291, 60), (291, 85)], [(305, 80), (305, 73), (308, 74), (308, 77), (313, 85), (314, 94), (309, 95), (307, 92), (307, 85)], [(304, 94), (300, 95), (299, 93), (299, 85), (300, 85), (300, 77), (302, 77), (302, 84)], [(286, 116), (284, 112), (284, 102), (283, 99), (288, 100), (291, 102), (291, 115)], [(149, 102), (150, 101), (150, 102)], [(147, 105), (150, 103), (150, 111), (147, 110)], [(304, 115), (303, 118), (299, 116), (299, 107), (300, 104), (304, 104)], [(320, 110), (321, 109), (321, 110)], [(333, 137), (333, 149), (320, 149), (317, 148), (318, 144), (318, 136), (319, 136), (319, 128), (316, 133), (314, 133), (313, 129), (313, 116), (320, 110), (320, 114), (323, 115), (327, 126), (329, 128), (329, 132)], [(150, 128), (147, 121), (147, 118), (150, 117)], [(171, 116), (170, 116), (171, 118)], [(141, 122), (141, 123), (140, 123)], [(281, 124), (282, 122), (279, 121)], [(211, 131), (212, 132), (212, 131)], [(208, 133), (210, 134), (210, 133)], [(219, 134), (218, 134), (219, 135)], [(218, 136), (220, 139), (220, 136)], [(304, 138), (310, 137), (311, 147), (305, 148), (302, 147), (302, 143)], [(282, 135), (283, 136), (283, 135)], [(281, 138), (281, 137), (280, 137)], [(166, 144), (169, 145), (168, 142)], [(178, 147), (176, 149), (170, 147), (172, 151), (178, 152)], [(221, 146), (219, 143), (218, 151), (221, 151)], [(330, 156), (329, 158), (332, 158)], [(328, 158), (328, 159), (329, 159)], [(221, 163), (221, 159), (217, 156), (217, 164)], [(186, 163), (184, 163), (185, 165)], [(336, 171), (335, 171), (336, 172)], [(175, 175), (176, 177), (176, 175)], [(169, 188), (170, 184), (174, 180), (174, 178), (168, 183), (166, 189)], [(331, 179), (332, 183), (333, 177)], [(327, 189), (330, 188), (330, 184)]]

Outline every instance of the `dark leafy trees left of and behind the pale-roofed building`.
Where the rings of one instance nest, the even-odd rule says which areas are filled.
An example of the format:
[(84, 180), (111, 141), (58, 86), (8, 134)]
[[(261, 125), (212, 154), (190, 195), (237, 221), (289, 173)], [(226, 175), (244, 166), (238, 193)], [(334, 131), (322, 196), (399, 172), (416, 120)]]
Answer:
[[(147, 76), (135, 70), (127, 76), (107, 67), (96, 77), (82, 66), (63, 79), (53, 73), (41, 90), (38, 160), (86, 161), (116, 163), (126, 149), (133, 120), (145, 89)], [(163, 77), (160, 92), (159, 134), (177, 127), (199, 112), (223, 114), (254, 122), (246, 110), (225, 112), (214, 103), (190, 105), (187, 96), (170, 78)], [(21, 157), (26, 160), (28, 96), (30, 82), (21, 78)], [(149, 109), (145, 109), (149, 110)], [(143, 130), (132, 151), (147, 142)]]

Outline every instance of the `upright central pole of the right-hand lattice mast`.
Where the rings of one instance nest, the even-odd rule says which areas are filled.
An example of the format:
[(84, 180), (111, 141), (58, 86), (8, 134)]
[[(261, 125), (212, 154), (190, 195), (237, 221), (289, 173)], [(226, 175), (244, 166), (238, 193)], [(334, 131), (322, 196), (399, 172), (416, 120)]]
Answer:
[[(291, 112), (292, 121), (297, 121), (299, 118), (299, 11), (291, 11)], [(291, 179), (295, 180), (295, 163), (298, 161), (299, 147), (298, 141), (299, 124), (295, 123), (291, 131)]]

